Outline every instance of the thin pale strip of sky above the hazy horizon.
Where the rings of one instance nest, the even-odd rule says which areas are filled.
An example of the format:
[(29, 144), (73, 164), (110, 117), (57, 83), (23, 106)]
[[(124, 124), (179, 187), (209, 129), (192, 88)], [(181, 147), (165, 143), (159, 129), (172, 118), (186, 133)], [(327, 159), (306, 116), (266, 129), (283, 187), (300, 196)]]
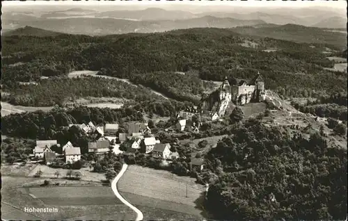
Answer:
[(2, 1), (3, 6), (40, 6), (40, 5), (60, 5), (60, 6), (101, 6), (101, 5), (112, 5), (112, 6), (149, 6), (149, 7), (160, 7), (168, 5), (197, 5), (197, 6), (241, 6), (241, 7), (274, 7), (274, 8), (302, 8), (302, 7), (330, 7), (330, 8), (347, 8), (347, 1)]

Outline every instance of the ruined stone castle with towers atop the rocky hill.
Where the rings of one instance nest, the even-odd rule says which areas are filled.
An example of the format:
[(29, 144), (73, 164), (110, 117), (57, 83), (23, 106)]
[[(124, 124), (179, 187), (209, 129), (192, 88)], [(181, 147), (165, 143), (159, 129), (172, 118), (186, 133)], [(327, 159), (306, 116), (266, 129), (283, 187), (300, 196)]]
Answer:
[(220, 95), (223, 92), (231, 93), (231, 101), (237, 105), (244, 105), (251, 101), (260, 102), (264, 100), (264, 81), (260, 72), (249, 82), (239, 81), (237, 85), (230, 85), (227, 77), (220, 88)]

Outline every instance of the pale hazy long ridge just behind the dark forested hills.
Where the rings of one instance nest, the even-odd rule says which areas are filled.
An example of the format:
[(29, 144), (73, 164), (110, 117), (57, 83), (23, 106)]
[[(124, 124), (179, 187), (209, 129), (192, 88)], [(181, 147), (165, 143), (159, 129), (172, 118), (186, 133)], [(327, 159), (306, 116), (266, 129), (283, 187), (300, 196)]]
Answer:
[[(15, 21), (12, 21), (15, 24)], [(17, 22), (18, 26), (33, 26), (49, 31), (84, 35), (111, 35), (122, 33), (153, 33), (184, 28), (233, 28), (264, 24), (261, 20), (239, 20), (212, 16), (185, 20), (131, 21), (126, 19), (107, 19), (77, 17), (70, 19), (40, 19), (30, 22)]]

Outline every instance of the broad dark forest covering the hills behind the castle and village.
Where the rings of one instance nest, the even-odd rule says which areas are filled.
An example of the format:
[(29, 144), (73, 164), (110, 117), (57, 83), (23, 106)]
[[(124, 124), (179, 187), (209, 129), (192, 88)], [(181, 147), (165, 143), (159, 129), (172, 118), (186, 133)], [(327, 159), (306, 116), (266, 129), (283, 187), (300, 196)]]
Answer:
[[(241, 44), (246, 40), (258, 46), (243, 47)], [(104, 69), (100, 73), (130, 79), (178, 100), (195, 101), (203, 90), (198, 78), (180, 77), (172, 72), (196, 70), (200, 79), (208, 81), (221, 81), (225, 76), (251, 79), (260, 72), (266, 87), (272, 90), (283, 87), (294, 92), (303, 88), (322, 93), (346, 91), (347, 75), (323, 68), (334, 64), (322, 53), (328, 45), (314, 45), (252, 38), (219, 28), (103, 37), (10, 36), (3, 38), (2, 83), (3, 90), (15, 94), (17, 81), (40, 81), (41, 76), (62, 76), (72, 70)], [(263, 51), (269, 48), (278, 50)], [(54, 81), (56, 85), (62, 83), (61, 88), (66, 83)], [(42, 82), (42, 85), (49, 83)], [(189, 88), (189, 85), (196, 86)], [(292, 94), (296, 96), (296, 93)], [(14, 102), (17, 100), (16, 104), (27, 103), (19, 97), (13, 98)], [(53, 103), (51, 97), (42, 102)], [(31, 101), (34, 104), (40, 102)]]

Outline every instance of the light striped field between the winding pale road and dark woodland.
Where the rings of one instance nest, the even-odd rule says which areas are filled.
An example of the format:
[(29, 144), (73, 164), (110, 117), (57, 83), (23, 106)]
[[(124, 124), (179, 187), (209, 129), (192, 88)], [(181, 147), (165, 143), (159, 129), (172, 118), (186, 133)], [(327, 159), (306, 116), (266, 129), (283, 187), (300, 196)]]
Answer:
[(179, 177), (168, 171), (130, 165), (118, 182), (118, 190), (131, 204), (191, 215), (202, 212), (196, 208), (196, 201), (204, 187), (190, 177)]

